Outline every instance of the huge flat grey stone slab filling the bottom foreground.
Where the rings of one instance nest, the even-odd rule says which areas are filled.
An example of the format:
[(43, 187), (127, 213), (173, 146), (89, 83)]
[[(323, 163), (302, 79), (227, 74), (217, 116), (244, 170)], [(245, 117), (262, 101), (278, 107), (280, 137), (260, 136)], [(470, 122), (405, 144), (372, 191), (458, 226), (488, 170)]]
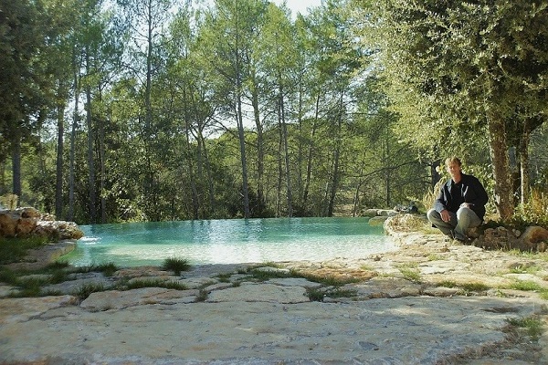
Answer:
[(503, 343), (507, 318), (531, 316), (540, 304), (497, 297), (405, 297), (336, 304), (146, 305), (96, 313), (57, 307), (51, 314), (5, 321), (0, 362), (451, 363)]

